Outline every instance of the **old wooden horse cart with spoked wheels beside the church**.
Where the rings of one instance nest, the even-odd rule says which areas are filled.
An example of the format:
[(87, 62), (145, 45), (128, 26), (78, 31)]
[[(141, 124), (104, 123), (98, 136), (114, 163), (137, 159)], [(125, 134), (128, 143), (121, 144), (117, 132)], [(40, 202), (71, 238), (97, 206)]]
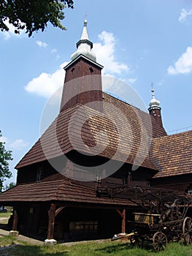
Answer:
[(128, 239), (137, 246), (149, 241), (155, 252), (165, 250), (169, 241), (192, 244), (192, 219), (187, 216), (192, 206), (190, 196), (174, 190), (130, 186), (98, 188), (96, 195), (128, 199), (141, 206), (142, 212), (134, 212), (134, 220), (126, 222), (131, 232), (115, 235), (112, 241)]

